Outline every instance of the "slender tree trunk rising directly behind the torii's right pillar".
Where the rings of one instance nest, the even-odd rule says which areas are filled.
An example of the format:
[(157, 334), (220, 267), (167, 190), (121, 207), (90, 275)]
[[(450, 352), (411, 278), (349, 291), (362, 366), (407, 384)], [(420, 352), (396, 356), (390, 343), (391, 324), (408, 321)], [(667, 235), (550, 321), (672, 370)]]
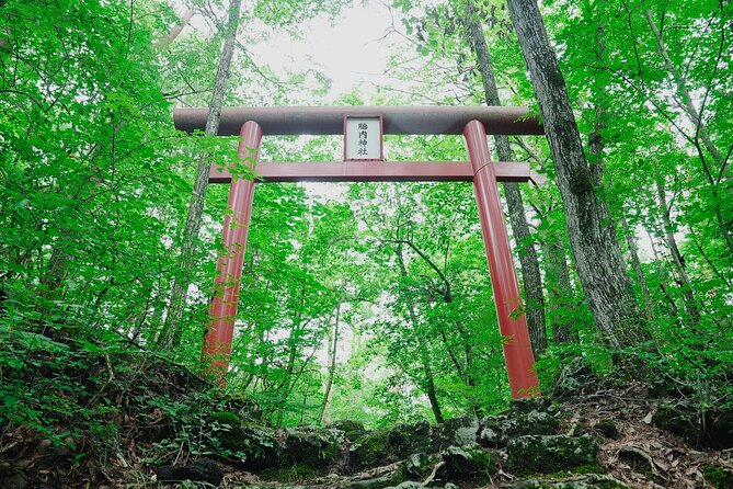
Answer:
[[(483, 30), (476, 16), (476, 5), (471, 0), (468, 0), (466, 2), (465, 16), (466, 30), (469, 42), (473, 46), (473, 52), (479, 60), (479, 71), (483, 81), (486, 105), (501, 105), (502, 102), (499, 99), (499, 89), (496, 87), (496, 77), (494, 76), (491, 54), (486, 46), (486, 39), (483, 36)], [(494, 141), (496, 143), (496, 152), (500, 161), (513, 161), (514, 152), (509, 146), (508, 136), (495, 135)], [(517, 183), (503, 183), (503, 185), (506, 205), (509, 211), (512, 230), (514, 231), (514, 240), (519, 250), (522, 284), (525, 289), (525, 311), (527, 315), (527, 326), (529, 327), (529, 338), (535, 359), (539, 359), (540, 354), (547, 349), (547, 326), (545, 319), (545, 297), (542, 296), (542, 278), (539, 272), (537, 251), (529, 232), (519, 185)]]

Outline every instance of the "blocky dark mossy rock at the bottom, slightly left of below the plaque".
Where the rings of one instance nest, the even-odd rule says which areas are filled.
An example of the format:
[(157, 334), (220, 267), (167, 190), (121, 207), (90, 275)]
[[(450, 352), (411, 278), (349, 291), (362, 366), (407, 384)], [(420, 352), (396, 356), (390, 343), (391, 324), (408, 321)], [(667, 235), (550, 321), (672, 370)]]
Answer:
[(328, 467), (341, 457), (343, 432), (316, 427), (293, 428), (287, 431), (283, 456), (296, 464)]

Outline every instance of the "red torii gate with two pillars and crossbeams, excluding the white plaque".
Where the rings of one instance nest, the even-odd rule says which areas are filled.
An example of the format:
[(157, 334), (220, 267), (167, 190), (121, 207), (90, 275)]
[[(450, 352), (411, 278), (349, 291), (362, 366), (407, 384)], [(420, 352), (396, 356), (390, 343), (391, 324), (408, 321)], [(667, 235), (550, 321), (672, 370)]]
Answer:
[[(192, 133), (203, 130), (208, 109), (179, 109), (175, 127)], [(465, 161), (343, 161), (257, 163), (264, 135), (337, 135), (344, 133), (345, 117), (378, 115), (383, 134), (463, 134), (470, 162)], [(531, 180), (528, 163), (494, 162), (486, 132), (506, 135), (541, 135), (536, 117), (524, 107), (500, 106), (314, 106), (224, 109), (220, 136), (241, 135), (239, 155), (249, 158), (260, 182), (376, 182), (460, 181), (473, 182), (481, 230), (489, 260), (496, 315), (504, 338), (504, 360), (513, 398), (539, 394), (535, 359), (514, 261), (508, 244), (504, 214), (496, 182)], [(230, 183), (229, 212), (222, 241), (226, 249), (217, 264), (203, 357), (220, 382), (229, 366), (237, 317), (240, 278), (254, 197), (254, 180), (233, 179), (229, 170), (211, 168), (209, 182)]]

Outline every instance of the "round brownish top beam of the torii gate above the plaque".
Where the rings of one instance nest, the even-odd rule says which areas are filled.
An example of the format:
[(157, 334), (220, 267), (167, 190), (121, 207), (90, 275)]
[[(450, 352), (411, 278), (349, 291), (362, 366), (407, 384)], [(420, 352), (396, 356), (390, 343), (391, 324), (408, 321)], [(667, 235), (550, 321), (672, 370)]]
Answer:
[[(204, 130), (208, 109), (176, 109), (175, 128)], [(219, 136), (236, 136), (242, 124), (254, 121), (265, 136), (336, 135), (344, 132), (344, 116), (381, 115), (385, 134), (462, 134), (479, 121), (488, 134), (541, 135), (539, 120), (526, 107), (490, 105), (355, 105), (227, 107), (221, 110)]]

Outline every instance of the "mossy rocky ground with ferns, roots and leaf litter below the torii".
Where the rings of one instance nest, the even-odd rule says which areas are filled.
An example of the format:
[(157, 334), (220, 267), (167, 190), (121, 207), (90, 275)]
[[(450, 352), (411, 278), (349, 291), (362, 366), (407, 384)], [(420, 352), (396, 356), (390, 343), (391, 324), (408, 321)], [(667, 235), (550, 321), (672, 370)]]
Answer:
[(275, 429), (256, 403), (169, 361), (46, 341), (72, 361), (49, 367), (38, 349), (26, 362), (36, 367), (3, 371), (28, 390), (57, 379), (44, 388), (51, 403), (37, 406), (43, 429), (3, 427), (5, 489), (733, 487), (733, 412), (701, 409), (653, 376), (599, 377), (575, 363), (499, 414)]

